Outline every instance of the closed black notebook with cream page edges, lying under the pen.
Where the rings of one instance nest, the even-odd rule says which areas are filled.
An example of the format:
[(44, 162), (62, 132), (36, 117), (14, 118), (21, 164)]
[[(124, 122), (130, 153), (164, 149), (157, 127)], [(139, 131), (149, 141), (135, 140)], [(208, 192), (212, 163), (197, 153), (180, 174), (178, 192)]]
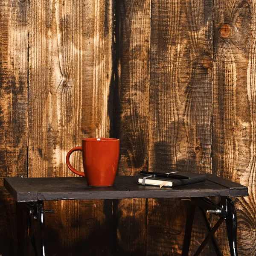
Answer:
[[(176, 173), (175, 173), (176, 174)], [(202, 182), (207, 179), (206, 174), (190, 173), (190, 172), (177, 172), (177, 175), (184, 175), (190, 177), (190, 179), (174, 179), (174, 178), (162, 178), (162, 177), (148, 177), (145, 175), (138, 176), (138, 184), (143, 185), (143, 178), (145, 178), (145, 185), (151, 186), (166, 186), (174, 187), (180, 185), (186, 185), (191, 183)]]

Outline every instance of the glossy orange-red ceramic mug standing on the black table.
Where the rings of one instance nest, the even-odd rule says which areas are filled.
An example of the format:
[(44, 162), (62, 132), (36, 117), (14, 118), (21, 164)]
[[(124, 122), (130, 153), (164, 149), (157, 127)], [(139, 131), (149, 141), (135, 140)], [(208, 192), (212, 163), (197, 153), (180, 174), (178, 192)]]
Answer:
[[(84, 172), (79, 172), (70, 164), (70, 155), (82, 151)], [(119, 139), (88, 138), (82, 145), (72, 148), (66, 157), (67, 167), (77, 175), (86, 177), (90, 186), (112, 186), (116, 178), (119, 160)]]

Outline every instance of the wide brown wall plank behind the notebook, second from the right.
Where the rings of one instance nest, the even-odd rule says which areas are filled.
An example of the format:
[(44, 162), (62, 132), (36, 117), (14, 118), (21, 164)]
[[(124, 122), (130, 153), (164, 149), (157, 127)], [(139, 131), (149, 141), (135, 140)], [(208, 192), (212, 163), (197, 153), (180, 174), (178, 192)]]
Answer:
[[(148, 156), (152, 171), (211, 172), (212, 8), (212, 0), (152, 0)], [(168, 207), (162, 203), (168, 204), (148, 201), (147, 254), (180, 255), (185, 218), (180, 202), (169, 205), (175, 209), (168, 212), (175, 222), (164, 224), (169, 232), (149, 232), (152, 225), (163, 226)], [(197, 220), (192, 240), (197, 236), (203, 241), (203, 224)], [(193, 243), (192, 252), (196, 247)], [(202, 255), (210, 255), (209, 247)]]

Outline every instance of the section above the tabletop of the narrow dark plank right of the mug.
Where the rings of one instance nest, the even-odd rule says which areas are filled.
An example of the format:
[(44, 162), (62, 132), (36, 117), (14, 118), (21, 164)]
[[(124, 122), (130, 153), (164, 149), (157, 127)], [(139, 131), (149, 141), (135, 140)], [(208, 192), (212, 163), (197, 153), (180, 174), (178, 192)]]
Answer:
[(150, 0), (118, 1), (116, 30), (119, 175), (132, 175), (148, 166)]

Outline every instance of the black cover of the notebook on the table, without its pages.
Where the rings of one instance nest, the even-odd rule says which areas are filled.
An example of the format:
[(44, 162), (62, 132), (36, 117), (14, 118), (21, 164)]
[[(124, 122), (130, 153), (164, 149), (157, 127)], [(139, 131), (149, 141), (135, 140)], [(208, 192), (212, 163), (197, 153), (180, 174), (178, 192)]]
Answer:
[[(172, 181), (172, 187), (191, 184), (191, 183), (197, 183), (197, 182), (202, 182), (202, 181), (207, 180), (206, 174), (201, 174), (201, 173), (177, 172), (176, 174), (177, 175), (188, 176), (188, 177), (190, 177), (190, 179), (179, 180), (179, 179), (163, 178), (163, 177), (148, 177), (147, 179), (149, 179), (149, 180)], [(138, 178), (141, 179), (145, 176), (146, 175), (140, 175), (140, 176), (138, 176)], [(139, 184), (142, 185), (141, 183), (139, 183)], [(145, 185), (148, 185), (148, 184), (145, 184)], [(158, 185), (151, 185), (151, 186), (158, 186)]]

